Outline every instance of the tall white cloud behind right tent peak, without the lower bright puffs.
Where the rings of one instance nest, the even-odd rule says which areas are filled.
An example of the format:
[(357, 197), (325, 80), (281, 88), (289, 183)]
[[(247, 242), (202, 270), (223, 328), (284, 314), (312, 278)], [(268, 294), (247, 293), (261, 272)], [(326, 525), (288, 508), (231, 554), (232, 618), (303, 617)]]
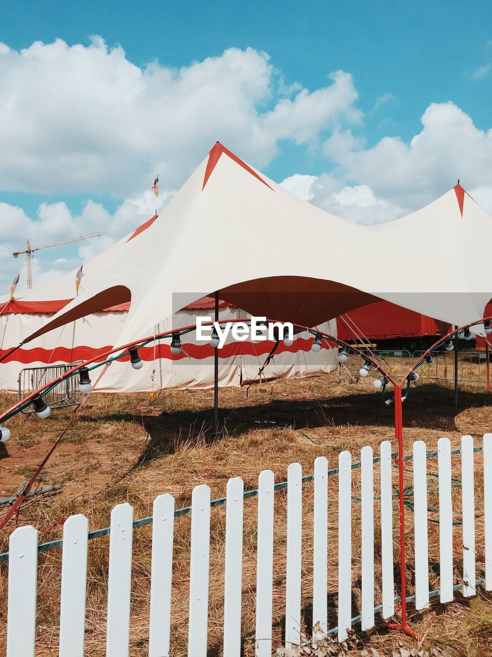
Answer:
[(432, 103), (422, 116), (422, 131), (409, 143), (384, 137), (361, 148), (344, 137), (325, 152), (337, 163), (342, 183), (367, 185), (375, 195), (401, 208), (417, 209), (443, 194), (458, 178), (468, 187), (489, 186), (492, 129), (482, 131), (452, 102)]

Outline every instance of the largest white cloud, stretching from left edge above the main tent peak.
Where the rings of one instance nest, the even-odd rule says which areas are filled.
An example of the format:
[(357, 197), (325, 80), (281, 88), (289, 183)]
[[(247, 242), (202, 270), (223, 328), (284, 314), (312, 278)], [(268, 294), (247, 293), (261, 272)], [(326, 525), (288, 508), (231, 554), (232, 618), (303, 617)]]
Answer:
[(157, 171), (161, 189), (176, 189), (216, 140), (264, 167), (279, 139), (312, 145), (325, 129), (361, 120), (350, 74), (338, 71), (313, 92), (286, 86), (252, 48), (173, 69), (139, 68), (100, 37), (87, 47), (1, 45), (0, 89), (0, 143), (9, 152), (0, 189), (9, 191), (123, 198)]

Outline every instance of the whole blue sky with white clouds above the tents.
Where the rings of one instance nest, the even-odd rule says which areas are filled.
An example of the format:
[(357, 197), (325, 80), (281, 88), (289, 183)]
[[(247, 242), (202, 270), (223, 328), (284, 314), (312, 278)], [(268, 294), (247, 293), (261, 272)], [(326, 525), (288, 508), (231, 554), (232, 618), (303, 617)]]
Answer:
[[(98, 45), (98, 57), (89, 52), (92, 35), (104, 41)], [(32, 47), (35, 41), (51, 44), (56, 39), (64, 41), (66, 49), (51, 53)], [(172, 193), (215, 139), (276, 181), (297, 175), (286, 183), (289, 189), (357, 221), (387, 220), (415, 210), (452, 187), (455, 177), (478, 191), (479, 200), (492, 211), (492, 163), (487, 156), (492, 141), (490, 3), (220, 0), (20, 5), (3, 0), (0, 41), (10, 49), (0, 57), (0, 82), (7, 80), (7, 98), (16, 104), (15, 120), (7, 114), (7, 128), (0, 129), (0, 150), (15, 154), (10, 163), (9, 157), (3, 158), (0, 170), (2, 222), (4, 229), (13, 221), (26, 232), (37, 233), (25, 235), (19, 228), (13, 241), (4, 240), (5, 256), (11, 243), (18, 248), (25, 237), (50, 241), (71, 237), (73, 231), (92, 233), (104, 224), (99, 246), (42, 254), (37, 265), (41, 281), (75, 267), (94, 249), (142, 223), (152, 200), (146, 181), (152, 184), (154, 171), (165, 172), (161, 189)], [(71, 49), (77, 44), (79, 51)], [(115, 49), (118, 45), (121, 48)], [(30, 49), (29, 54), (17, 57), (22, 49)], [(210, 67), (205, 74), (203, 67), (194, 68), (194, 63), (209, 60), (216, 62), (213, 72)], [(161, 105), (156, 100), (160, 78), (146, 78), (144, 91), (137, 79), (138, 68), (148, 74), (152, 62), (164, 76), (163, 87), (169, 85)], [(180, 79), (183, 71), (188, 77), (181, 84), (169, 81)], [(345, 77), (334, 78), (337, 71)], [(208, 74), (213, 75), (211, 83)], [(119, 85), (106, 97), (112, 75)], [(243, 78), (237, 83), (236, 102), (238, 76)], [(39, 80), (43, 85), (36, 87)], [(191, 85), (196, 85), (194, 93), (183, 99)], [(201, 85), (210, 85), (214, 93), (196, 95)], [(117, 133), (106, 139), (104, 125), (111, 124), (113, 96), (117, 95), (118, 107), (127, 102), (126, 89), (133, 89), (133, 106), (127, 123), (121, 117), (116, 120), (125, 137), (120, 144)], [(70, 104), (72, 95), (82, 100)], [(194, 114), (195, 97), (205, 103), (205, 116), (200, 111)], [(250, 97), (251, 105), (239, 116), (236, 108), (245, 107)], [(174, 115), (163, 118), (174, 99), (182, 125)], [(285, 99), (291, 101), (287, 118), (282, 114)], [(422, 134), (424, 115), (425, 134), (413, 148), (412, 139)], [(146, 156), (138, 144), (138, 130), (143, 145), (149, 122), (155, 122), (157, 143), (152, 154), (147, 148)], [(169, 141), (166, 124), (176, 134), (175, 141)], [(258, 143), (247, 137), (249, 130), (260, 130)], [(89, 148), (92, 138), (96, 146)], [(81, 155), (71, 158), (70, 148)], [(401, 153), (404, 162), (397, 177), (395, 163), (401, 161)], [(392, 172), (389, 176), (386, 166)], [(89, 170), (96, 173), (91, 176)], [(425, 181), (419, 180), (420, 172)], [(22, 210), (23, 216), (11, 208)], [(68, 262), (54, 267), (53, 261), (60, 258)], [(0, 284), (5, 286), (16, 266), (13, 259), (3, 265)]]

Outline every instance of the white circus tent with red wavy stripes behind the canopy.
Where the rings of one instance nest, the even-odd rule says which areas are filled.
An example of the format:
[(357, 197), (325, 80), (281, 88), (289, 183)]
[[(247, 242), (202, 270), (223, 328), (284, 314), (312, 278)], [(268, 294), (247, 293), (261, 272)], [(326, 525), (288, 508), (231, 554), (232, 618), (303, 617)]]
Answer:
[[(148, 225), (155, 217), (140, 226), (132, 235), (114, 244), (94, 260), (83, 265), (84, 271), (97, 276), (106, 265), (121, 252), (123, 246)], [(85, 276), (81, 279), (79, 292), (85, 288)], [(38, 286), (33, 290), (16, 294), (10, 301), (0, 299), (0, 357), (18, 345), (20, 338), (39, 331), (61, 311), (75, 296), (75, 272), (57, 281)], [(157, 304), (157, 302), (156, 302)], [(19, 375), (23, 370), (44, 368), (93, 359), (98, 353), (110, 350), (116, 344), (129, 312), (129, 302), (106, 307), (98, 312), (76, 319), (55, 330), (41, 334), (25, 346), (14, 351), (0, 363), (0, 390), (16, 392)], [(215, 311), (215, 300), (209, 297), (197, 299), (172, 317), (159, 321), (148, 328), (146, 336), (195, 325), (197, 317), (211, 317)], [(219, 319), (237, 320), (248, 317), (248, 313), (229, 302), (219, 302)], [(323, 323), (319, 327), (325, 332), (336, 330), (335, 322)], [(144, 392), (162, 388), (209, 388), (214, 384), (214, 350), (209, 343), (197, 342), (195, 333), (182, 336), (183, 350), (172, 355), (169, 340), (156, 342), (140, 350), (144, 365), (129, 376), (128, 357), (115, 361), (104, 371), (95, 390), (100, 392)], [(258, 380), (262, 369), (262, 380), (279, 378), (302, 378), (330, 373), (337, 369), (337, 356), (333, 348), (323, 342), (319, 353), (311, 351), (312, 339), (308, 334), (295, 335), (294, 343), (286, 346), (280, 342), (274, 356), (268, 360), (275, 342), (235, 342), (229, 336), (219, 350), (219, 386), (239, 386)], [(23, 373), (22, 381), (30, 373)], [(45, 378), (49, 371), (45, 373)], [(49, 379), (47, 379), (49, 380)]]

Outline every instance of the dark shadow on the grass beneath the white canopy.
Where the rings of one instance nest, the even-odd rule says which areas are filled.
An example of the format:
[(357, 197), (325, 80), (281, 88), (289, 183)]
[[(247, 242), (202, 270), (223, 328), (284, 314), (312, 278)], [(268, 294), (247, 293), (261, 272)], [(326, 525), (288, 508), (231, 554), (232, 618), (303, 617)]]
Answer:
[[(392, 400), (390, 389), (387, 398)], [(219, 393), (220, 403), (220, 393)], [(487, 392), (461, 392), (459, 407), (454, 404), (451, 388), (437, 384), (420, 384), (410, 391), (403, 406), (406, 427), (428, 428), (442, 432), (458, 429), (455, 419), (464, 409), (492, 405)], [(115, 414), (106, 419), (134, 421), (131, 414)], [(85, 421), (101, 422), (102, 418), (86, 417)], [(225, 434), (239, 436), (244, 432), (267, 428), (310, 428), (337, 426), (394, 426), (394, 406), (385, 405), (379, 393), (348, 394), (318, 399), (276, 399), (242, 407), (220, 407), (217, 436), (214, 432), (213, 409), (191, 412), (167, 411), (160, 415), (140, 415), (139, 424), (148, 433), (148, 442), (132, 470), (163, 454), (174, 453), (185, 443), (211, 443)]]

